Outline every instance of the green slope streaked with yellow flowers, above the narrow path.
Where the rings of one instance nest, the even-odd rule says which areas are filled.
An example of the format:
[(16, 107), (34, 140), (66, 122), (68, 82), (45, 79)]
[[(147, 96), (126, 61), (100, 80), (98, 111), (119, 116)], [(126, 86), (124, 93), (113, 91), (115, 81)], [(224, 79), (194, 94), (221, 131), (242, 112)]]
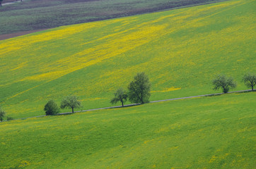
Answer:
[[(209, 94), (219, 73), (255, 72), (255, 1), (59, 27), (0, 42), (0, 93), (8, 115), (42, 115), (50, 99), (76, 94), (83, 109), (110, 106), (138, 72), (151, 100)], [(64, 110), (68, 111), (68, 110)]]

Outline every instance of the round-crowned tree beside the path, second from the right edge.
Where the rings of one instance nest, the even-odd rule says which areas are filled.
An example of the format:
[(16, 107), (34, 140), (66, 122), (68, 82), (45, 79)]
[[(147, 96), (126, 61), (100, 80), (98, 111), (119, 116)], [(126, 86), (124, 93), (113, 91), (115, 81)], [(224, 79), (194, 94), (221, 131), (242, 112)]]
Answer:
[(236, 83), (234, 82), (232, 77), (226, 77), (225, 75), (218, 75), (212, 83), (214, 84), (214, 90), (218, 90), (222, 88), (224, 93), (228, 93), (229, 89), (233, 89), (236, 87)]

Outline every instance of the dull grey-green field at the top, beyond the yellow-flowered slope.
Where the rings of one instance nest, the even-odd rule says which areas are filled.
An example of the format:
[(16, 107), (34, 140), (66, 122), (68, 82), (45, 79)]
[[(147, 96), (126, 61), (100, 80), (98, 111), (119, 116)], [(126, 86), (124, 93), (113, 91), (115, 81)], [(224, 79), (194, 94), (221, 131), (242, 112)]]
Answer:
[(2, 6), (0, 35), (223, 0), (27, 0)]

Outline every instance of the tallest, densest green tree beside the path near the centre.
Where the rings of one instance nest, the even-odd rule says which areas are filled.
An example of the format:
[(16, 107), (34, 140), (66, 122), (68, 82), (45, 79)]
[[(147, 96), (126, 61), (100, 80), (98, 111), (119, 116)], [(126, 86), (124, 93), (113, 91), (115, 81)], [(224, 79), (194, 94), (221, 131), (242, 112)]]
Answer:
[(134, 80), (128, 86), (128, 97), (132, 103), (147, 103), (150, 97), (149, 77), (145, 73), (137, 73)]

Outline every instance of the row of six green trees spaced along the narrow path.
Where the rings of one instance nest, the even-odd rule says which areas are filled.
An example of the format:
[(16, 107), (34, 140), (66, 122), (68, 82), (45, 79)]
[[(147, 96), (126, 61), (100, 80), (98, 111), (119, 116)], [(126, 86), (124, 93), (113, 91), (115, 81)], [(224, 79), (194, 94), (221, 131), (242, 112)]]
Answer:
[[(256, 84), (256, 75), (252, 73), (246, 73), (243, 76), (243, 82), (247, 87), (253, 87)], [(225, 75), (218, 75), (212, 81), (214, 84), (214, 90), (218, 90), (222, 88), (224, 93), (227, 93), (229, 89), (233, 89), (236, 87), (236, 83), (233, 80), (233, 77), (226, 77)], [(121, 102), (122, 106), (124, 103), (129, 100), (131, 103), (135, 104), (145, 104), (149, 102), (149, 97), (151, 89), (151, 83), (149, 82), (149, 77), (145, 73), (137, 73), (134, 76), (134, 80), (129, 83), (127, 87), (127, 91), (122, 87), (117, 89), (115, 92), (114, 98), (111, 99), (111, 104), (117, 104), (117, 102)], [(80, 108), (81, 102), (78, 101), (76, 96), (66, 96), (60, 105), (60, 108), (71, 108), (72, 113), (74, 113), (74, 108)], [(51, 100), (45, 105), (45, 113), (46, 115), (54, 115), (59, 113), (59, 107), (57, 104)]]

